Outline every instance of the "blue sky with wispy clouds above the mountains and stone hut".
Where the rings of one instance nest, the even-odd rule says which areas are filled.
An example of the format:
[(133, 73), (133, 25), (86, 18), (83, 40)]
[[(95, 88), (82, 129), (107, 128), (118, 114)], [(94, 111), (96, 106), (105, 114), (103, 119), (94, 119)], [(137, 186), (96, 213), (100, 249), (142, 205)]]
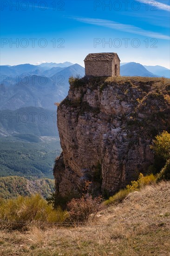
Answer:
[[(121, 62), (170, 68), (170, 0), (1, 0), (1, 65), (117, 52)], [(16, 42), (16, 43), (13, 43)]]

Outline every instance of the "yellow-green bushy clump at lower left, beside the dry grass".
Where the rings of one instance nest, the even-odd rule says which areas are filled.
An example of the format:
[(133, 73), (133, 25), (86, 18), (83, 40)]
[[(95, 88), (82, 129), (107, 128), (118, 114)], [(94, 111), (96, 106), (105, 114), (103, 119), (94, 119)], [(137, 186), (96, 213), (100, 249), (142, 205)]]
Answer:
[(67, 211), (53, 209), (39, 194), (0, 200), (0, 228), (27, 229), (31, 222), (64, 222)]

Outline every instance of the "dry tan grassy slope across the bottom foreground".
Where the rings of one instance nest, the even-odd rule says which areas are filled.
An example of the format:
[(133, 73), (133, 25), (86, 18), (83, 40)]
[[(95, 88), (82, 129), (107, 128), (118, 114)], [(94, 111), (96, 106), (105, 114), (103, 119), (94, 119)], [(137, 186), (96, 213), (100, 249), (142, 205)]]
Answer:
[(146, 186), (76, 228), (0, 231), (1, 256), (170, 256), (170, 182)]

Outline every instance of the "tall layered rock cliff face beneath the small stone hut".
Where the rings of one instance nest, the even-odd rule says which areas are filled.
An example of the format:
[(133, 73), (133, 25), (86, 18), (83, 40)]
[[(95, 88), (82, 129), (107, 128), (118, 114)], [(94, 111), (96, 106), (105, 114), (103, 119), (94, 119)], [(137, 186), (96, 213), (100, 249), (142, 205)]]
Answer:
[(170, 128), (170, 81), (162, 78), (71, 79), (58, 108), (63, 153), (54, 177), (61, 195), (113, 194), (153, 162), (150, 144)]

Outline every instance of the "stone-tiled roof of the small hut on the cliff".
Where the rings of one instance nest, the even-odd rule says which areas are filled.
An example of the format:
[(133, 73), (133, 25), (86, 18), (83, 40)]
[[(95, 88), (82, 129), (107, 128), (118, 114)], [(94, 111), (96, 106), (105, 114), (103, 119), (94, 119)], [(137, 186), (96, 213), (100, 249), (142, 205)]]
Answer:
[(88, 54), (85, 57), (85, 61), (112, 61), (117, 53), (98, 53), (98, 54)]

